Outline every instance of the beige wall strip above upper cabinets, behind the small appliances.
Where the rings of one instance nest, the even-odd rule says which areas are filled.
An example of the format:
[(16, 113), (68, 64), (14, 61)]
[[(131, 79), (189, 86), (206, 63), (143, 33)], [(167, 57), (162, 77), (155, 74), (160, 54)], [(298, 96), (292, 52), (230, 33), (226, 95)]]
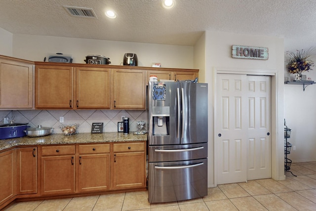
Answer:
[(78, 38), (62, 38), (35, 35), (13, 35), (13, 56), (31, 61), (43, 61), (44, 57), (72, 56), (73, 63), (85, 63), (85, 56), (103, 55), (110, 58), (111, 65), (120, 65), (124, 53), (136, 53), (138, 66), (151, 67), (161, 63), (166, 68), (193, 68), (193, 47), (139, 42), (116, 42)]

